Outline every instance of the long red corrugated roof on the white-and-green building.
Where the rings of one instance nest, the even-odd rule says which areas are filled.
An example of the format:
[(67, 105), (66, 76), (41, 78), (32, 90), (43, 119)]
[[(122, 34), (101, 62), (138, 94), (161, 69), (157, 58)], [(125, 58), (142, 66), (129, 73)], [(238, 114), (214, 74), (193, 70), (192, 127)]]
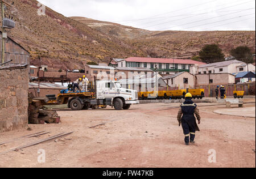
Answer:
[(129, 57), (126, 58), (127, 62), (141, 62), (141, 63), (176, 63), (176, 64), (198, 64), (204, 65), (203, 62), (194, 61), (192, 59), (173, 59), (173, 58), (144, 58), (144, 57)]

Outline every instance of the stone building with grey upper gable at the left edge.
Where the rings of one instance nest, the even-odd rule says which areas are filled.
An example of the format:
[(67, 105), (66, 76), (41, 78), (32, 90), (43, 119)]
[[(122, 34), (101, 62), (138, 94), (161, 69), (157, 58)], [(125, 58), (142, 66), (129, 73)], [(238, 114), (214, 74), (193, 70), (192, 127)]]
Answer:
[(0, 132), (26, 127), (28, 122), (30, 56), (9, 37), (5, 39), (5, 46), (5, 62), (12, 61), (0, 64)]

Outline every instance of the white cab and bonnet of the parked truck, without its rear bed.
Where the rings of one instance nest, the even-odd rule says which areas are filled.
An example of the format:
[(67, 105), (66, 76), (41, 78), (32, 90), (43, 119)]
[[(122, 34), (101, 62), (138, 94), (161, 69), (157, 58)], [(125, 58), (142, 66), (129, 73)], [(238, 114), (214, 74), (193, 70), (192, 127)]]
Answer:
[[(138, 104), (138, 92), (122, 88), (118, 81), (97, 81), (97, 104), (114, 106), (115, 109), (129, 109), (131, 104)], [(96, 101), (92, 101), (95, 103)]]

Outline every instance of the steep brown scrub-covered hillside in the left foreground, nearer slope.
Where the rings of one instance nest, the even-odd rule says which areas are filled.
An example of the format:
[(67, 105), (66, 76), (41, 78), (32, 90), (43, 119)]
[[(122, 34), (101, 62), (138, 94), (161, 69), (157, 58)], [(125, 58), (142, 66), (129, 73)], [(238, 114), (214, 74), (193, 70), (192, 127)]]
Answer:
[(127, 54), (143, 56), (135, 52), (125, 41), (96, 31), (46, 8), (46, 15), (39, 16), (38, 1), (14, 0), (14, 6), (6, 14), (14, 16), (16, 27), (8, 35), (31, 54), (31, 64), (56, 69), (79, 69), (86, 61), (110, 61), (110, 57)]

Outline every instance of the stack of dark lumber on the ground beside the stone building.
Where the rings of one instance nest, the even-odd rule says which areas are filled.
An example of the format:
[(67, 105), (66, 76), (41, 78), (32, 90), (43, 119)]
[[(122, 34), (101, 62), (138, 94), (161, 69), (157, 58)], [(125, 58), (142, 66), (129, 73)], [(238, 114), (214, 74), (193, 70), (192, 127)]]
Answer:
[(29, 123), (44, 124), (60, 122), (60, 117), (58, 116), (56, 110), (43, 110), (42, 102), (38, 100), (33, 100), (31, 94), (28, 95), (28, 103)]

